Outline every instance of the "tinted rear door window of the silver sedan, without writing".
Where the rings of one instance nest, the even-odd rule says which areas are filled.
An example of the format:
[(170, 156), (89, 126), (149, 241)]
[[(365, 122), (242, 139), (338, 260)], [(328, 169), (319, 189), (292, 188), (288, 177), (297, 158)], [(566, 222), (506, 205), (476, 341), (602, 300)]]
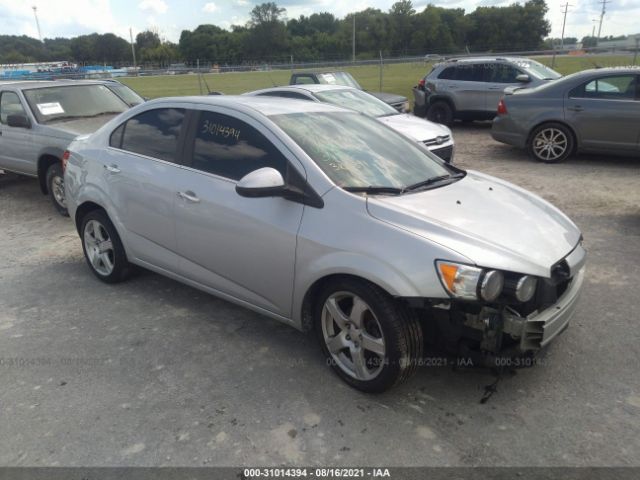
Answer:
[[(111, 135), (111, 142), (120, 148), (148, 157), (176, 162), (178, 137), (182, 129), (185, 111), (181, 108), (149, 110), (127, 120)], [(120, 129), (123, 131), (118, 137)], [(111, 143), (111, 146), (117, 146)]]

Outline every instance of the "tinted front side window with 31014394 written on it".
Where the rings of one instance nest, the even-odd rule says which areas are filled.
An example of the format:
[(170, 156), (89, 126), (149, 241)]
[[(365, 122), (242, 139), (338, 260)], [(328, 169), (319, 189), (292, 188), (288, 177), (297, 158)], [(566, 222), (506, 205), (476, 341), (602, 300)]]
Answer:
[(201, 112), (191, 166), (232, 180), (272, 167), (286, 178), (287, 159), (247, 123), (220, 113)]

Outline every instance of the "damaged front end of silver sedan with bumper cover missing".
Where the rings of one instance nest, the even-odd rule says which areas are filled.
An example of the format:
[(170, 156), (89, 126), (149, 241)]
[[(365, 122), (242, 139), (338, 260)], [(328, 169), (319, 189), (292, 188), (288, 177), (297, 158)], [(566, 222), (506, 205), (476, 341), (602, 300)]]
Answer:
[(585, 261), (581, 243), (544, 278), (437, 261), (451, 298), (413, 306), (424, 320), (425, 337), (438, 349), (468, 359), (467, 364), (496, 367), (505, 359), (533, 358), (567, 328)]

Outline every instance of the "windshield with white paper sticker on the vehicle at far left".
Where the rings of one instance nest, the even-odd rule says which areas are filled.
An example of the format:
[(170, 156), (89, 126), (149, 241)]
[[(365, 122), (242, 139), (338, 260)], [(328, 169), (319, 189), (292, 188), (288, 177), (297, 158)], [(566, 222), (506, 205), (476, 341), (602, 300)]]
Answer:
[(129, 108), (104, 85), (69, 85), (24, 91), (39, 123), (121, 113)]

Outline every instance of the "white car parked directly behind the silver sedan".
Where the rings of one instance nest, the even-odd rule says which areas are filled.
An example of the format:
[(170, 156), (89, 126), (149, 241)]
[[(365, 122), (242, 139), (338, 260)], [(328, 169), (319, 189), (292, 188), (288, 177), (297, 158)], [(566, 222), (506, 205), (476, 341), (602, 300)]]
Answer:
[(394, 130), (424, 144), (445, 162), (453, 161), (453, 136), (448, 127), (416, 118), (415, 115), (400, 113), (373, 95), (356, 88), (342, 85), (292, 85), (266, 88), (245, 95), (293, 98), (349, 108), (377, 118)]

